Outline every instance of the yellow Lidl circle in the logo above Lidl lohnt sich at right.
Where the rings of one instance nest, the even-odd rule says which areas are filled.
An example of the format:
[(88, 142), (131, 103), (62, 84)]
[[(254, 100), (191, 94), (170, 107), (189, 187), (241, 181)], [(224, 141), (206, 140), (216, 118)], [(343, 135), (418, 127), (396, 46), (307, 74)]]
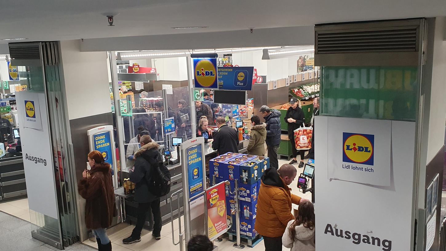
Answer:
[(344, 142), (344, 154), (351, 162), (368, 162), (373, 156), (373, 144), (366, 136), (353, 134)]

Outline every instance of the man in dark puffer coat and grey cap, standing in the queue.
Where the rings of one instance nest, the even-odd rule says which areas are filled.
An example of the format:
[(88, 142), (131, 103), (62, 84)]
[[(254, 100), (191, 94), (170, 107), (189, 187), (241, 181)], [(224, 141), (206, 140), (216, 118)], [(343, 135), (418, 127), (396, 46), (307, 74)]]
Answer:
[(266, 146), (268, 149), (268, 158), (270, 167), (279, 169), (279, 160), (277, 160), (277, 150), (280, 145), (281, 112), (270, 109), (268, 106), (260, 107), (260, 114), (265, 119), (266, 123)]

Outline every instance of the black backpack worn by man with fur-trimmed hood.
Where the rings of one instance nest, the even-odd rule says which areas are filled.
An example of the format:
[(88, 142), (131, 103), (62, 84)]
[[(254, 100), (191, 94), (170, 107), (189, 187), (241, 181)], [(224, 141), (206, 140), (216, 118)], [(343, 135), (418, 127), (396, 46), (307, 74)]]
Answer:
[(153, 161), (147, 156), (144, 159), (152, 165), (151, 179), (149, 180), (149, 191), (157, 197), (162, 197), (170, 192), (170, 171), (162, 161)]

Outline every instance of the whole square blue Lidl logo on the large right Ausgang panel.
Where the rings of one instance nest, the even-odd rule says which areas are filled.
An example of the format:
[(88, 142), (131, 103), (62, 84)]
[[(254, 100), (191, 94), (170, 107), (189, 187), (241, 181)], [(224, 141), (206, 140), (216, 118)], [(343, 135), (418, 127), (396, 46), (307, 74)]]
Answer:
[(343, 161), (373, 165), (375, 136), (343, 132)]

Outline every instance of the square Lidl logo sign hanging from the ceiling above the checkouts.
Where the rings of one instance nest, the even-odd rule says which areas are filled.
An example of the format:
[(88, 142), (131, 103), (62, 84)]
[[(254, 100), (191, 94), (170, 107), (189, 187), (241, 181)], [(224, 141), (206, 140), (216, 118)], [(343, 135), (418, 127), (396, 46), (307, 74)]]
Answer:
[(217, 88), (217, 60), (215, 58), (194, 59), (195, 87)]

